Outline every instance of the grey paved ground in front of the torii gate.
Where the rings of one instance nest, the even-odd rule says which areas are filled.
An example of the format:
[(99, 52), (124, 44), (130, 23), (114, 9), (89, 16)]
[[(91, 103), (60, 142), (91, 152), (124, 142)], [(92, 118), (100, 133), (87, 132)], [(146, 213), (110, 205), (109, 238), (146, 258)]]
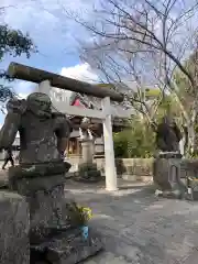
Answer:
[(157, 199), (143, 184), (66, 184), (66, 197), (94, 211), (91, 227), (102, 235), (106, 252), (85, 264), (197, 264), (198, 202)]

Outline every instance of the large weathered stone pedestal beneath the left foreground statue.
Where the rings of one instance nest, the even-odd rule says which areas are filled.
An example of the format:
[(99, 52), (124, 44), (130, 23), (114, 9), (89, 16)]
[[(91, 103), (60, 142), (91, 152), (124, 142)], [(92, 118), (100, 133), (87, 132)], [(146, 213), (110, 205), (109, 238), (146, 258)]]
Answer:
[(75, 264), (101, 250), (100, 241), (91, 234), (84, 240), (84, 223), (64, 197), (69, 168), (68, 163), (10, 168), (10, 188), (25, 196), (30, 206), (31, 264)]

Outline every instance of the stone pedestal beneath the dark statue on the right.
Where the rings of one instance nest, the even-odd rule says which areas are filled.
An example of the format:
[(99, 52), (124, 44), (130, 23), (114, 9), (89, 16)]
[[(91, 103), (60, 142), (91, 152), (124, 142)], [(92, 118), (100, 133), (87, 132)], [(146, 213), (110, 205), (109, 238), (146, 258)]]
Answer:
[(182, 155), (177, 153), (162, 153), (154, 161), (153, 180), (163, 196), (183, 198), (186, 186), (180, 180)]

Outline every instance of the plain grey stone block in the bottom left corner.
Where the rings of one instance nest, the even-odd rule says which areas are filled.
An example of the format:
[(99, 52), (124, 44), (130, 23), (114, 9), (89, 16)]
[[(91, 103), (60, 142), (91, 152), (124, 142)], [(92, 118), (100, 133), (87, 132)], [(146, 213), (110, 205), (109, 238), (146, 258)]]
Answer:
[(0, 191), (0, 263), (29, 264), (29, 206), (24, 198)]

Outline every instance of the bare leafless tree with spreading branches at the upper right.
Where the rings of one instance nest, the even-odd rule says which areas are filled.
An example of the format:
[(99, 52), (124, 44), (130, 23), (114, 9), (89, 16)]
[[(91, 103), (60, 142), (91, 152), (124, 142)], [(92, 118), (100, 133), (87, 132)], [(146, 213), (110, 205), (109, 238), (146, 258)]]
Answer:
[[(150, 122), (155, 121), (158, 106), (168, 91), (184, 111), (185, 122), (193, 125), (191, 117), (198, 116), (198, 77), (188, 70), (184, 59), (197, 48), (193, 47), (197, 28), (190, 29), (189, 24), (198, 14), (198, 1), (101, 0), (91, 21), (64, 11), (94, 35), (92, 42), (81, 42), (80, 53), (103, 81), (117, 89), (127, 87), (128, 100)], [(190, 111), (186, 111), (186, 102), (175, 84), (175, 72), (185, 76), (188, 89), (194, 92)], [(145, 88), (154, 86), (160, 96), (146, 101)]]

